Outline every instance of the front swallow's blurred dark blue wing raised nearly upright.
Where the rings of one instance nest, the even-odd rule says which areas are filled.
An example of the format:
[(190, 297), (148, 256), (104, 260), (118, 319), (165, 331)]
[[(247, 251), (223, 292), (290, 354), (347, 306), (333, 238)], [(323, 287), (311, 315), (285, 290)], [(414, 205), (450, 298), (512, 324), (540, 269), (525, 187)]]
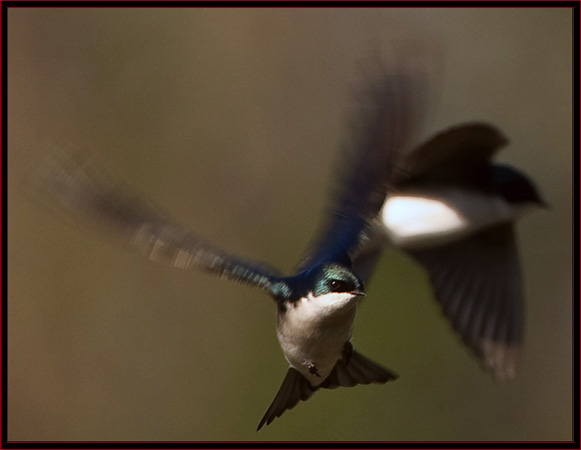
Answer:
[(352, 118), (329, 212), (298, 270), (329, 261), (351, 265), (385, 200), (394, 155), (406, 145), (421, 77), (405, 65), (388, 70), (374, 63)]

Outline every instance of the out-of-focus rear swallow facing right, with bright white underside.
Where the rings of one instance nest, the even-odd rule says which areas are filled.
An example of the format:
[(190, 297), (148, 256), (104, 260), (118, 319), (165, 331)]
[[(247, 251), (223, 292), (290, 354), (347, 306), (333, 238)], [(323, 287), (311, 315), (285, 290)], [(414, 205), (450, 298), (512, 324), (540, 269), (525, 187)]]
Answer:
[[(495, 127), (450, 128), (393, 154), (377, 234), (427, 271), (434, 296), (465, 344), (497, 379), (515, 374), (523, 292), (513, 223), (545, 206), (523, 173), (491, 161), (507, 140)], [(378, 235), (360, 256), (366, 279)]]

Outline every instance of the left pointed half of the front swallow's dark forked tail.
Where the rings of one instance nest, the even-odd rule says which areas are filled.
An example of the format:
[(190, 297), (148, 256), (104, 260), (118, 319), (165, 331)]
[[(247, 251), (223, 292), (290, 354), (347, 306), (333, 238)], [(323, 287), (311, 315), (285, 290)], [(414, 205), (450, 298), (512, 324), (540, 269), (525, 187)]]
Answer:
[(309, 380), (302, 376), (298, 370), (289, 367), (280, 389), (266, 413), (264, 413), (264, 417), (258, 424), (256, 431), (260, 430), (264, 425), (269, 425), (287, 409), (294, 408), (299, 401), (308, 400), (317, 389), (318, 387), (311, 386)]

